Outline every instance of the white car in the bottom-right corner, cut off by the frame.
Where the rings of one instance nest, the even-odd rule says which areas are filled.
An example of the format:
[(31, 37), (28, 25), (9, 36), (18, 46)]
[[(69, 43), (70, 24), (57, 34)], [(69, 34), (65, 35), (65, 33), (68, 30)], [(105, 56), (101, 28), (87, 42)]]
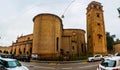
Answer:
[(120, 70), (120, 56), (105, 58), (98, 65), (97, 70)]

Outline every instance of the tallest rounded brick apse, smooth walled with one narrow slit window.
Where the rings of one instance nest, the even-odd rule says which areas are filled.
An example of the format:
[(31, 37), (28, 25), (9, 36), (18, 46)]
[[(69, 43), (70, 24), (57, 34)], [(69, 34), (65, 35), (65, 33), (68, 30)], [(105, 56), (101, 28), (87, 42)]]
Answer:
[(39, 14), (33, 18), (33, 55), (38, 58), (59, 56), (62, 38), (62, 20), (53, 14)]

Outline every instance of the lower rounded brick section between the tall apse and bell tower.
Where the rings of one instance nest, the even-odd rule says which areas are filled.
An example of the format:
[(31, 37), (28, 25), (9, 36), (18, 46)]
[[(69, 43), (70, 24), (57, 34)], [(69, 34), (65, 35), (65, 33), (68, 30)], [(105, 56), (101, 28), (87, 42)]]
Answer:
[(62, 47), (65, 54), (86, 55), (85, 31), (81, 29), (64, 29)]

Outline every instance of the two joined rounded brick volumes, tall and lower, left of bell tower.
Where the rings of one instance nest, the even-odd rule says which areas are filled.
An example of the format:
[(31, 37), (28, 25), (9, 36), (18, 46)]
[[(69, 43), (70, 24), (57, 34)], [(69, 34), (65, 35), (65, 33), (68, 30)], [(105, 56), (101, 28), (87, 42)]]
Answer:
[[(62, 20), (54, 14), (39, 14), (34, 17), (32, 55), (38, 58), (57, 58), (63, 50), (69, 55), (85, 55), (85, 31), (81, 29), (63, 29)], [(73, 34), (76, 35), (73, 35)], [(73, 42), (75, 36), (77, 39)], [(74, 49), (72, 49), (74, 48)]]

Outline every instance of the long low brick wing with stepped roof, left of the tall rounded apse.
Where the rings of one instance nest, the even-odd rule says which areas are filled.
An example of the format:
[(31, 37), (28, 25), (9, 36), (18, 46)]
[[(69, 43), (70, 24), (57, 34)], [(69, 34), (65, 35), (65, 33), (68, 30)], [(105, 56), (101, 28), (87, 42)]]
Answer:
[(18, 55), (31, 55), (32, 53), (33, 34), (20, 36), (16, 42), (12, 43), (12, 54)]

